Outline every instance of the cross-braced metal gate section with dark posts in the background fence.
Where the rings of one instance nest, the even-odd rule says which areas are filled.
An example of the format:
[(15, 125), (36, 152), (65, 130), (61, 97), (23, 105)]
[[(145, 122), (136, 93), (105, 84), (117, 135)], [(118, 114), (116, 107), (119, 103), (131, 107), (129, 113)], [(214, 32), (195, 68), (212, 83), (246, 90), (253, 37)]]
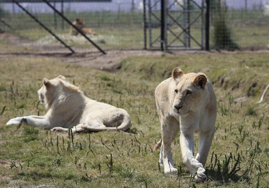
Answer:
[(149, 48), (203, 50), (205, 3), (197, 1), (148, 0)]

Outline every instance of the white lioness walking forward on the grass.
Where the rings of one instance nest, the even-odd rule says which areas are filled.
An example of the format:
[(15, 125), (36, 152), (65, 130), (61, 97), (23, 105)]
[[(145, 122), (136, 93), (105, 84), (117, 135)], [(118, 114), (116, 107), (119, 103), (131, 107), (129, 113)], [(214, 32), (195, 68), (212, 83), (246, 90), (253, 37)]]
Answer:
[[(197, 182), (206, 179), (204, 165), (215, 131), (216, 97), (212, 85), (203, 73), (188, 73), (175, 68), (172, 77), (160, 83), (155, 91), (162, 138), (160, 164), (165, 173), (176, 173), (171, 142), (180, 130), (183, 162)], [(194, 153), (194, 132), (200, 131), (199, 149)]]

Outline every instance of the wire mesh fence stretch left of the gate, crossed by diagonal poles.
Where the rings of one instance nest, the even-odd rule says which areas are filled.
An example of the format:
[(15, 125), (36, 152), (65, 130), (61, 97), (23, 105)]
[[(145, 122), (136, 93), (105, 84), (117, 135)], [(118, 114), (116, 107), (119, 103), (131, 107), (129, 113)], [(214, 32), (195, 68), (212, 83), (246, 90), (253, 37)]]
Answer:
[[(74, 51), (97, 51), (85, 37), (71, 29), (70, 25), (46, 3), (18, 1)], [(143, 7), (139, 2), (134, 0), (117, 2), (50, 0), (49, 2), (103, 50), (143, 48)], [(12, 44), (14, 52), (69, 51), (18, 5), (6, 0), (0, 1), (0, 32), (2, 32), (0, 43)], [(3, 52), (4, 48), (0, 50)]]

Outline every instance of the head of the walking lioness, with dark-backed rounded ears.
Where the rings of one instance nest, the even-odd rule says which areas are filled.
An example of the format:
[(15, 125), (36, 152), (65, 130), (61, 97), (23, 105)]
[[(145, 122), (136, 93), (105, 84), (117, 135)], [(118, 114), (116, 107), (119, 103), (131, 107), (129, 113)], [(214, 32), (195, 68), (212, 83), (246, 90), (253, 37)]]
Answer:
[(174, 80), (172, 112), (176, 115), (186, 115), (201, 108), (207, 79), (202, 74), (184, 72), (175, 68), (172, 72)]

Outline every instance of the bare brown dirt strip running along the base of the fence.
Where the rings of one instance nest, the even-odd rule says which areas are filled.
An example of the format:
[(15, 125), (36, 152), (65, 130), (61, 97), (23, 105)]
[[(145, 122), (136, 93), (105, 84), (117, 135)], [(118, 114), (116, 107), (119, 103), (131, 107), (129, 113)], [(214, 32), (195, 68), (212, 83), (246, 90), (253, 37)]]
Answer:
[[(5, 41), (8, 46), (12, 45), (14, 47), (26, 47), (27, 51), (20, 52), (9, 52), (9, 51), (0, 51), (0, 60), (27, 56), (27, 57), (54, 57), (59, 58), (65, 63), (77, 63), (81, 66), (92, 67), (101, 70), (107, 71), (117, 71), (121, 68), (121, 62), (132, 56), (160, 56), (164, 54), (161, 51), (153, 50), (109, 50), (105, 51), (106, 54), (103, 55), (97, 49), (88, 50), (83, 53), (69, 54), (68, 49), (64, 48), (62, 45), (40, 45), (31, 41), (29, 39), (14, 35), (12, 33), (1, 33), (0, 40)], [(81, 49), (74, 48), (75, 51), (80, 51)], [(179, 54), (204, 54), (204, 53), (269, 53), (268, 50), (260, 51), (201, 51), (201, 50), (178, 50), (178, 51), (169, 51), (167, 55), (179, 55)]]

